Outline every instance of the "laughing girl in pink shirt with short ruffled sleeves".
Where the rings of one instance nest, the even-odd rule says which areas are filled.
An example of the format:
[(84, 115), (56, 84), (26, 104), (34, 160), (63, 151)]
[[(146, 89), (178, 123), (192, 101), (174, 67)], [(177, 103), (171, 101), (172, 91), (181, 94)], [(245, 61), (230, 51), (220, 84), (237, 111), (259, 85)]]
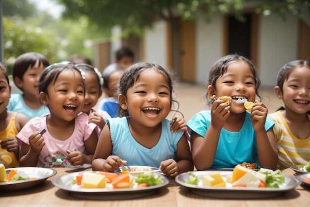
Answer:
[[(40, 100), (50, 114), (30, 120), (16, 136), (23, 141), (22, 167), (70, 167), (91, 164), (96, 149), (95, 124), (87, 124), (83, 74), (73, 65), (53, 64), (40, 76)], [(40, 132), (42, 129), (46, 133)], [(83, 152), (86, 150), (87, 154)]]

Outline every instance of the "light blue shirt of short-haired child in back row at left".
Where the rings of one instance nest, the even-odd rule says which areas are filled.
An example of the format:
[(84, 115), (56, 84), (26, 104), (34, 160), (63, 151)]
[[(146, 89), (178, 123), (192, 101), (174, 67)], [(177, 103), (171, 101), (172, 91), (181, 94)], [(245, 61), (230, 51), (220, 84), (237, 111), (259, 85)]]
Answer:
[(50, 113), (49, 108), (44, 105), (42, 105), (42, 107), (40, 107), (39, 109), (29, 108), (23, 99), (23, 94), (21, 93), (11, 94), (11, 98), (8, 102), (6, 109), (8, 111), (15, 111), (21, 114), (25, 114), (29, 119), (33, 119), (35, 117), (42, 117)]

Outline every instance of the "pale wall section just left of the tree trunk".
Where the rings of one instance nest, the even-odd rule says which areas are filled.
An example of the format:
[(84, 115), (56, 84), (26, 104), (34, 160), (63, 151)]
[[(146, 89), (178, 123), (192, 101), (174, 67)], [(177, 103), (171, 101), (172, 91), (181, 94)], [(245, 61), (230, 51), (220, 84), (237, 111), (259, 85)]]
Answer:
[(145, 31), (144, 37), (145, 61), (167, 68), (166, 23), (155, 22), (153, 28)]

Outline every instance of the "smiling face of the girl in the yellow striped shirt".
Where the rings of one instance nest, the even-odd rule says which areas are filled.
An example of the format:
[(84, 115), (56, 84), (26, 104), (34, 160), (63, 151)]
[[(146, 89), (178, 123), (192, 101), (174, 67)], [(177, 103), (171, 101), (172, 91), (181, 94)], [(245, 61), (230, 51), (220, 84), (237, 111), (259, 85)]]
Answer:
[(290, 109), (298, 114), (310, 111), (310, 69), (293, 69), (283, 82), (282, 91), (276, 87), (276, 94), (278, 98), (283, 99), (286, 110)]

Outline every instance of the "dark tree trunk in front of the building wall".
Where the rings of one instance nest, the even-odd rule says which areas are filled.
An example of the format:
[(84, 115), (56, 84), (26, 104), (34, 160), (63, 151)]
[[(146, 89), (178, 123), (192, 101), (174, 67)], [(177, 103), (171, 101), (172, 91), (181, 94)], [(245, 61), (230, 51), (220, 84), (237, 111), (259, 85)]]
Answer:
[(170, 19), (171, 26), (171, 58), (175, 75), (181, 78), (181, 17)]

